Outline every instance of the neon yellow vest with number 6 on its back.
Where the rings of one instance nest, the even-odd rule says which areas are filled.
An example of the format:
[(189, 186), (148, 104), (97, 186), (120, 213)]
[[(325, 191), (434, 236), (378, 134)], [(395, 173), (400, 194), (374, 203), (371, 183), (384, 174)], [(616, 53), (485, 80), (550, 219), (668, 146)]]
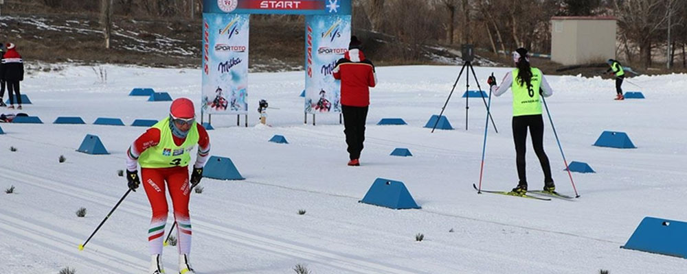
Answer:
[(527, 83), (521, 86), (517, 81), (518, 69), (513, 70), (513, 116), (541, 114), (541, 101), (539, 100), (539, 87), (541, 86), (541, 71), (532, 69), (532, 87), (527, 88)]

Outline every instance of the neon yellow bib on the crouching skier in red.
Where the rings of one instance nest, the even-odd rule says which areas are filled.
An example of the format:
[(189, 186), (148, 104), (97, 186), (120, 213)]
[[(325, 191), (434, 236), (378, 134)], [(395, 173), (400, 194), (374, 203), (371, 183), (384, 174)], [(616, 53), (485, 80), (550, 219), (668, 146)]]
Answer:
[(157, 122), (153, 127), (160, 130), (160, 142), (157, 146), (149, 147), (141, 153), (138, 158), (141, 167), (163, 169), (174, 166), (188, 166), (188, 163), (191, 161), (190, 151), (196, 146), (199, 139), (196, 122), (193, 122), (186, 140), (180, 146), (174, 144), (172, 129), (170, 129), (170, 117)]

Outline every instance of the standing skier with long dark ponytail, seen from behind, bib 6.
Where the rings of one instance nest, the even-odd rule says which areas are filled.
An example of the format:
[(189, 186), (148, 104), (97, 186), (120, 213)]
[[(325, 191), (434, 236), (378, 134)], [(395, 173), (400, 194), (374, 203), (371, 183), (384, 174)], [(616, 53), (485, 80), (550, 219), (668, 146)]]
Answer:
[(554, 180), (551, 177), (549, 158), (544, 153), (543, 136), (544, 121), (541, 117), (541, 95), (550, 97), (553, 90), (544, 78), (543, 73), (537, 68), (530, 67), (530, 58), (527, 49), (519, 48), (513, 52), (513, 62), (516, 69), (506, 73), (501, 86), (496, 85), (496, 78), (490, 76), (487, 83), (491, 86), (494, 95), (501, 96), (508, 90), (513, 90), (513, 140), (515, 141), (515, 158), (519, 182), (511, 191), (513, 195), (525, 195), (527, 193), (527, 178), (525, 173), (525, 152), (527, 141), (527, 129), (532, 134), (532, 147), (537, 153), (539, 164), (544, 173), (544, 191), (556, 190)]

